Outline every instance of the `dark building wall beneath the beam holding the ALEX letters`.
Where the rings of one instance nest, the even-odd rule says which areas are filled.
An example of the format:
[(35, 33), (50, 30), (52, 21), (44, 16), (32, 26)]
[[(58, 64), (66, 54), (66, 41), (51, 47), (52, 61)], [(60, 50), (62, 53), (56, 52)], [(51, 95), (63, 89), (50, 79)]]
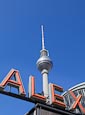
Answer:
[(75, 115), (70, 111), (56, 109), (47, 105), (37, 104), (31, 111), (25, 115)]

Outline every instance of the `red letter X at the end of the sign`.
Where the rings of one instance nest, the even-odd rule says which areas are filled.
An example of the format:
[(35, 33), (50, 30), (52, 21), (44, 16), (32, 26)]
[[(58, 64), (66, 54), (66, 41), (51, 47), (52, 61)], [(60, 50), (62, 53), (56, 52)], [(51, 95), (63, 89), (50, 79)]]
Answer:
[(78, 105), (79, 108), (81, 109), (81, 111), (85, 114), (85, 109), (82, 106), (82, 104), (80, 103), (80, 100), (82, 98), (82, 95), (79, 95), (78, 97), (75, 96), (75, 94), (73, 93), (73, 91), (69, 91), (70, 95), (74, 98), (75, 102), (72, 105), (71, 110), (74, 110), (76, 108), (76, 106)]

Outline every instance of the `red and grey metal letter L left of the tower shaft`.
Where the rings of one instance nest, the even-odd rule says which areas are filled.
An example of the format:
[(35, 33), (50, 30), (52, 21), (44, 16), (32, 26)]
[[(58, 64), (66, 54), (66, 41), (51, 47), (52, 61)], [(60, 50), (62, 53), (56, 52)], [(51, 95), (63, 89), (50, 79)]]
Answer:
[(35, 79), (33, 76), (29, 77), (29, 98), (34, 98), (40, 101), (46, 101), (46, 97), (35, 93)]

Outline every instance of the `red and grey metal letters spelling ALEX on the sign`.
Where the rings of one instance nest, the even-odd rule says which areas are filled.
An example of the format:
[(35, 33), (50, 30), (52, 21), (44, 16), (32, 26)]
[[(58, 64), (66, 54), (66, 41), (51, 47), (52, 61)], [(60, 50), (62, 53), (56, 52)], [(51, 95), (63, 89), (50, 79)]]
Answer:
[[(14, 79), (12, 79), (14, 77)], [(18, 89), (19, 94), (23, 97), (26, 97), (26, 92), (23, 86), (23, 82), (20, 77), (20, 73), (18, 70), (11, 69), (10, 72), (7, 74), (7, 76), (3, 79), (3, 81), (0, 83), (0, 90), (4, 91), (5, 87), (9, 85), (10, 87), (15, 87)], [(63, 92), (63, 88), (61, 86), (58, 86), (56, 84), (49, 83), (49, 97), (46, 98), (43, 95), (37, 94), (35, 92), (35, 78), (33, 76), (29, 77), (29, 91), (28, 91), (28, 97), (31, 100), (35, 100), (35, 102), (41, 102), (46, 103), (50, 105), (54, 105), (58, 108), (66, 108), (66, 104), (64, 103), (64, 97), (55, 93), (55, 92)], [(71, 111), (74, 111), (76, 107), (78, 106), (79, 109), (82, 111), (82, 113), (85, 114), (85, 108), (80, 103), (80, 100), (82, 98), (82, 95), (75, 96), (73, 91), (69, 91), (69, 94), (74, 99), (74, 102), (72, 104), (72, 107), (70, 108)]]

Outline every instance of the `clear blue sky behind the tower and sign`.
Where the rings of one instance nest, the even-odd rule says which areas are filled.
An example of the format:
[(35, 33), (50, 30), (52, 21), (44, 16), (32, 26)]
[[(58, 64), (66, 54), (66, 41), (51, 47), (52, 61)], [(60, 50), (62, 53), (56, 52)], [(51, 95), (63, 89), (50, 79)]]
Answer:
[[(0, 82), (11, 68), (18, 69), (28, 92), (29, 75), (42, 91), (42, 76), (36, 68), (41, 50), (41, 28), (53, 69), (49, 82), (64, 90), (85, 81), (85, 1), (1, 0)], [(34, 104), (0, 94), (1, 115), (24, 115)]]

